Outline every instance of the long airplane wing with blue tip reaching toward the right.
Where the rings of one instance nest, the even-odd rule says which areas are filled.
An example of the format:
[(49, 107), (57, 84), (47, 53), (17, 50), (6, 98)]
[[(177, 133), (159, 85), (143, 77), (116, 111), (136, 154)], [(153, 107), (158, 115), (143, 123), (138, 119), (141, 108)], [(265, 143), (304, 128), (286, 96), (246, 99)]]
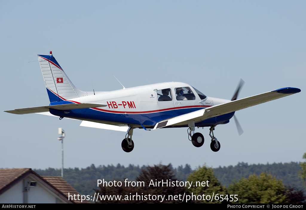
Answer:
[(265, 103), (278, 98), (292, 95), (300, 92), (298, 88), (281, 88), (273, 90), (271, 92), (265, 92), (259, 95), (250, 96), (247, 98), (222, 103), (205, 109), (197, 110), (188, 114), (183, 114), (174, 118), (160, 121), (154, 127), (154, 129), (163, 128), (170, 125), (187, 125), (188, 121), (200, 121), (216, 117), (218, 115), (227, 114), (230, 112), (238, 111), (244, 108), (252, 107), (260, 103)]

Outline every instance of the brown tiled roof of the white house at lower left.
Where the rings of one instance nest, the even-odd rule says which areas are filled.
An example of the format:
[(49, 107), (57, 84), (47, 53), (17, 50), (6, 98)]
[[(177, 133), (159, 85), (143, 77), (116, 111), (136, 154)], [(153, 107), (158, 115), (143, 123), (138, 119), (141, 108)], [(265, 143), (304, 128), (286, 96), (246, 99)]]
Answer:
[[(39, 174), (34, 172), (31, 168), (4, 168), (0, 169), (0, 195), (27, 176), (32, 176), (53, 193), (64, 198), (68, 202), (71, 202), (71, 199), (68, 197), (68, 193), (79, 194), (61, 176), (39, 176)], [(81, 203), (81, 201), (78, 200), (72, 200), (72, 202)], [(83, 201), (82, 203), (89, 202)]]

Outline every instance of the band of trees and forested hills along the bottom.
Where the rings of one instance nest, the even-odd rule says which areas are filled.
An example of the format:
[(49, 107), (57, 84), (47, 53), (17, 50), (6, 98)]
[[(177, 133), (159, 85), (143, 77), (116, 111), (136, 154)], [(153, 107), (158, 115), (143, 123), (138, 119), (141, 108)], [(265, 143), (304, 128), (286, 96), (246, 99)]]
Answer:
[[(303, 163), (302, 163), (303, 164)], [(212, 203), (304, 203), (305, 202), (305, 187), (300, 176), (301, 163), (273, 163), (273, 164), (252, 164), (238, 163), (235, 166), (227, 166), (218, 168), (210, 168), (206, 165), (199, 166), (192, 170), (190, 165), (180, 165), (173, 168), (169, 165), (154, 165), (154, 166), (135, 166), (117, 164), (114, 165), (99, 165), (94, 164), (87, 168), (65, 168), (64, 179), (71, 184), (78, 192), (84, 195), (93, 195), (95, 192), (100, 194), (133, 194), (133, 193), (148, 193), (177, 195), (181, 193), (188, 194), (220, 194), (220, 195), (239, 195), (238, 201), (232, 197), (226, 197), (225, 200), (218, 198), (212, 199)], [(42, 176), (60, 176), (61, 170), (54, 168), (34, 169)], [(143, 181), (149, 183), (150, 180), (178, 180), (196, 183), (196, 181), (209, 181), (211, 186), (206, 187), (97, 187), (97, 180), (104, 179), (105, 181), (121, 181), (125, 179), (129, 181)], [(260, 188), (258, 192), (254, 189)], [(161, 191), (162, 189), (162, 191)], [(252, 190), (250, 190), (252, 189)], [(274, 191), (271, 192), (271, 189)], [(267, 196), (267, 192), (271, 196)], [(250, 194), (250, 192), (252, 194)], [(242, 196), (244, 195), (244, 196)], [(200, 197), (199, 197), (200, 198)], [(225, 197), (222, 197), (224, 199)], [(100, 202), (117, 202), (117, 201), (100, 201)], [(119, 201), (118, 201), (119, 202)], [(120, 201), (132, 202), (132, 201)], [(140, 202), (140, 201), (139, 201)], [(141, 201), (143, 203), (152, 203), (154, 201)], [(160, 202), (160, 201), (156, 201)], [(164, 201), (165, 202), (165, 201)], [(170, 202), (170, 201), (168, 201)], [(171, 201), (174, 202), (174, 201)], [(175, 201), (181, 202), (181, 201)], [(204, 199), (191, 200), (191, 203), (205, 203)]]

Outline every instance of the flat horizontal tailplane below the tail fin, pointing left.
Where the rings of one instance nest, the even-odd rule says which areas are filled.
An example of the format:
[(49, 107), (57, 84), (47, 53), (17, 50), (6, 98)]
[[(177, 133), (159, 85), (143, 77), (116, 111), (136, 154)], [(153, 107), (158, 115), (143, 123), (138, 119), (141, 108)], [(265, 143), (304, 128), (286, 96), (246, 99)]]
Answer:
[(69, 104), (59, 104), (59, 105), (51, 105), (43, 107), (14, 109), (5, 112), (12, 114), (31, 114), (31, 113), (47, 112), (49, 111), (49, 109), (72, 110), (72, 109), (84, 109), (84, 108), (106, 107), (106, 106), (107, 106), (106, 104), (96, 104), (96, 103), (69, 103)]

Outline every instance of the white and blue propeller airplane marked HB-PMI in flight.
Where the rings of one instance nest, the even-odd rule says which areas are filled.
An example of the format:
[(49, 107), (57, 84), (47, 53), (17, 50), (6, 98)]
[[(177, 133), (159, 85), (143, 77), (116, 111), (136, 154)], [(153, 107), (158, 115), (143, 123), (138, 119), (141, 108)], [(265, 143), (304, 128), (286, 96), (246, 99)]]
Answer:
[(241, 80), (231, 100), (205, 96), (183, 82), (163, 82), (108, 92), (84, 92), (69, 80), (62, 67), (50, 55), (37, 55), (49, 96), (49, 106), (29, 107), (5, 112), (12, 114), (40, 113), (82, 120), (80, 126), (126, 132), (121, 147), (125, 152), (134, 149), (133, 129), (188, 128), (188, 139), (201, 147), (204, 137), (195, 128), (210, 127), (211, 150), (220, 150), (214, 136), (217, 125), (226, 124), (235, 111), (298, 93), (298, 88), (281, 88), (255, 96), (237, 99), (243, 85)]

